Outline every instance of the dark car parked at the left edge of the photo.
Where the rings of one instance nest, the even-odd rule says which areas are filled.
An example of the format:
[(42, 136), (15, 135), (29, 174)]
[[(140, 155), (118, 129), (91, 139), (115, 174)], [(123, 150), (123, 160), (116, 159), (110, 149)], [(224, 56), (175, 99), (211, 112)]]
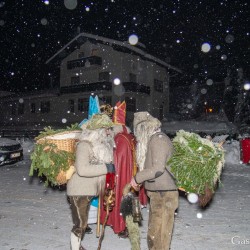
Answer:
[(23, 159), (23, 148), (20, 142), (0, 137), (0, 166), (15, 163)]

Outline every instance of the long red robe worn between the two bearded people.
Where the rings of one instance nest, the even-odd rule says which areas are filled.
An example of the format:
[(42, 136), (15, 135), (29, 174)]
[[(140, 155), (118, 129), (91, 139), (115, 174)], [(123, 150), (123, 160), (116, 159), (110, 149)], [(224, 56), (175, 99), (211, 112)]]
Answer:
[[(136, 174), (136, 159), (135, 159), (135, 145), (136, 140), (132, 134), (128, 134), (126, 127), (123, 127), (123, 132), (118, 133), (115, 136), (115, 145), (114, 149), (114, 165), (116, 168), (116, 180), (115, 180), (115, 206), (113, 210), (109, 213), (109, 218), (106, 225), (112, 226), (116, 234), (122, 232), (126, 223), (120, 214), (120, 206), (123, 188), (126, 184), (130, 183), (132, 176)], [(140, 195), (140, 197), (145, 197)], [(145, 200), (142, 199), (144, 204)], [(102, 202), (103, 203), (103, 202)], [(101, 214), (100, 222), (103, 224), (106, 211), (104, 210), (103, 204), (101, 203)]]

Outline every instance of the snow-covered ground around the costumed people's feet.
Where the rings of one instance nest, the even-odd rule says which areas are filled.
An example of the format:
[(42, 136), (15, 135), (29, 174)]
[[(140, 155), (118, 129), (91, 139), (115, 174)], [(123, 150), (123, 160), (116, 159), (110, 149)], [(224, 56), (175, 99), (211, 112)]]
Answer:
[[(37, 178), (29, 178), (33, 143), (23, 145), (24, 161), (0, 167), (0, 249), (68, 250), (72, 222), (65, 191), (45, 188)], [(224, 148), (223, 186), (205, 210), (180, 197), (171, 249), (250, 249), (250, 166), (240, 164), (237, 141)], [(143, 218), (141, 249), (146, 250), (147, 208)], [(95, 231), (96, 225), (91, 227)], [(82, 244), (88, 250), (97, 249), (98, 239), (95, 234), (86, 235)], [(107, 227), (102, 249), (130, 249), (130, 243)]]

